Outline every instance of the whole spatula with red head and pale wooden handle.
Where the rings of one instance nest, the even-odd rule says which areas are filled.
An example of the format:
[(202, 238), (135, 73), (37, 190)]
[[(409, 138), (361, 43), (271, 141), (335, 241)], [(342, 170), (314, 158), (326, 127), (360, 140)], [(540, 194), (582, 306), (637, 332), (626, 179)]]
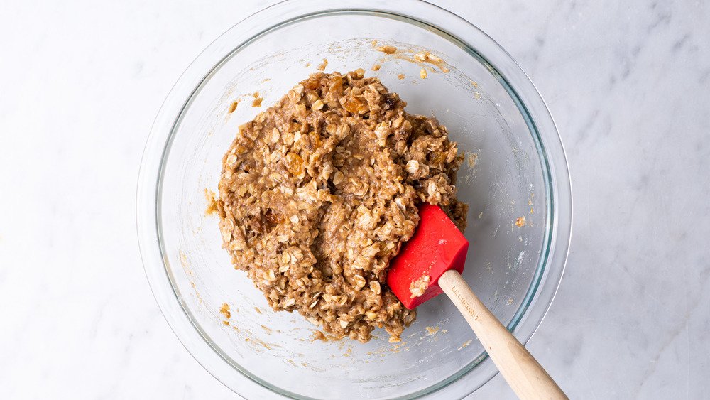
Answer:
[(422, 205), (419, 215), (417, 232), (390, 264), (387, 284), (395, 295), (412, 309), (446, 293), (520, 399), (567, 399), (461, 278), (469, 242), (454, 222), (435, 205)]

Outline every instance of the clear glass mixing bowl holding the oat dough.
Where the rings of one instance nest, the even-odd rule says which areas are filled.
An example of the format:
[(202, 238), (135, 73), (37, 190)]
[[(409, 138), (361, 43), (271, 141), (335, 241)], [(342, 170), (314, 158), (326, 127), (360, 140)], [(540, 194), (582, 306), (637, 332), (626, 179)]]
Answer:
[[(364, 68), (398, 92), (408, 112), (434, 115), (448, 127), (467, 158), (457, 185), (471, 207), (464, 278), (522, 342), (562, 277), (572, 222), (569, 173), (555, 124), (528, 77), (485, 33), (437, 6), (363, 4), (286, 1), (241, 21), (180, 77), (146, 145), (137, 217), (148, 280), (187, 350), (242, 396), (462, 397), (497, 372), (444, 296), (419, 308), (401, 343), (377, 330), (364, 345), (312, 342), (313, 325), (274, 313), (246, 274), (232, 269), (217, 217), (204, 213), (204, 190), (216, 190), (237, 126), (323, 59), (326, 71)], [(373, 40), (402, 53), (386, 55)], [(405, 60), (418, 50), (439, 55), (450, 72), (432, 67), (420, 78), (422, 65)], [(381, 69), (371, 71), (374, 64)], [(262, 108), (251, 105), (257, 91)], [(523, 227), (515, 225), (519, 217)], [(222, 303), (231, 306), (229, 326)]]

